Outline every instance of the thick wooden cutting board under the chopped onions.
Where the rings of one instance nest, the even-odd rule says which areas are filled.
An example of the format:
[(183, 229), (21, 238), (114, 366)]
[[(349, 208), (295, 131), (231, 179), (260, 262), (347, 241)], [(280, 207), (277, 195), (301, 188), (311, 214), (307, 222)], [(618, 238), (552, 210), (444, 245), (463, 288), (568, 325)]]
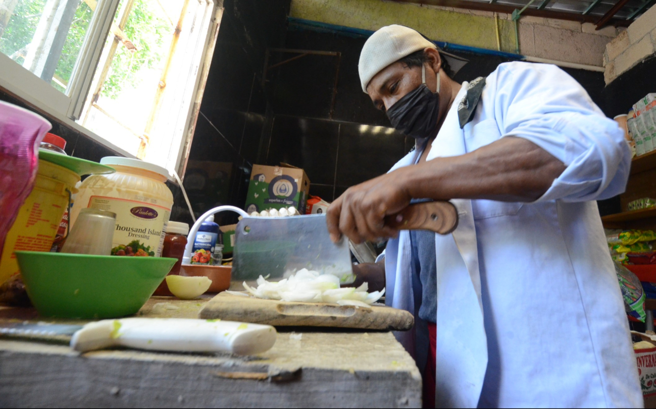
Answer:
[(332, 326), (388, 331), (407, 331), (415, 323), (411, 313), (392, 307), (284, 302), (225, 292), (205, 304), (198, 315), (201, 319), (274, 326)]

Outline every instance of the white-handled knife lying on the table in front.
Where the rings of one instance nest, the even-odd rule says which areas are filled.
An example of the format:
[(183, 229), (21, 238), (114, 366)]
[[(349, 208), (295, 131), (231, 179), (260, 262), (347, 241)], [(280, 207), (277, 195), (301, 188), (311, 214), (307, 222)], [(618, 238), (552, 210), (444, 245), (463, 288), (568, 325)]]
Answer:
[(46, 322), (0, 321), (0, 338), (70, 343), (75, 351), (110, 347), (150, 351), (229, 352), (253, 355), (271, 349), (276, 328), (245, 322), (124, 318), (89, 322), (85, 325)]

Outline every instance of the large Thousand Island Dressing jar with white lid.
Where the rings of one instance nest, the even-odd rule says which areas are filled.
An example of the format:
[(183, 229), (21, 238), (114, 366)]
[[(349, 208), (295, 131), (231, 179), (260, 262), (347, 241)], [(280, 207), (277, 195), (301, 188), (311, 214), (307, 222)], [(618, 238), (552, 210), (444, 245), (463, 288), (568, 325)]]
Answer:
[(113, 255), (160, 257), (173, 207), (173, 193), (164, 183), (167, 170), (125, 157), (104, 157), (100, 163), (116, 172), (91, 175), (82, 183), (71, 212), (72, 227), (83, 208), (108, 210), (116, 214)]

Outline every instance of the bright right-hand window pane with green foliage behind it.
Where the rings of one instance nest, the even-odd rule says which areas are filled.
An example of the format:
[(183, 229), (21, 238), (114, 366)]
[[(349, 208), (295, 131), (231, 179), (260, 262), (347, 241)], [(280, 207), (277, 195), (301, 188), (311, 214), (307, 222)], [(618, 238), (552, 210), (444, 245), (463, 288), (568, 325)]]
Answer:
[(104, 45), (82, 125), (133, 155), (148, 143), (184, 3), (121, 0)]

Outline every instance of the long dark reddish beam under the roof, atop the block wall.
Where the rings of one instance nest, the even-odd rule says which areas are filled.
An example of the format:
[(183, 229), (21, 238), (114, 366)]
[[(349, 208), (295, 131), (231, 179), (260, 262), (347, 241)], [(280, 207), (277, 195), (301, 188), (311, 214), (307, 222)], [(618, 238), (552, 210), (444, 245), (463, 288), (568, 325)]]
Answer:
[[(468, 1), (468, 0), (391, 0), (396, 3), (411, 3), (419, 5), (431, 5), (431, 6), (440, 6), (440, 7), (453, 7), (455, 9), (468, 9), (468, 10), (482, 10), (489, 12), (501, 12), (506, 14), (512, 14), (512, 12), (517, 8), (514, 6), (501, 5), (499, 3), (483, 3), (478, 1)], [(621, 0), (623, 1), (623, 0)], [(545, 18), (555, 18), (557, 20), (572, 20), (581, 23), (596, 23), (596, 16), (590, 16), (579, 13), (571, 12), (562, 12), (562, 11), (552, 11), (552, 10), (537, 10), (537, 9), (526, 9), (522, 16), (534, 16), (534, 17), (545, 17)], [(632, 21), (625, 19), (613, 18), (609, 20), (609, 24), (618, 27), (628, 27)]]

